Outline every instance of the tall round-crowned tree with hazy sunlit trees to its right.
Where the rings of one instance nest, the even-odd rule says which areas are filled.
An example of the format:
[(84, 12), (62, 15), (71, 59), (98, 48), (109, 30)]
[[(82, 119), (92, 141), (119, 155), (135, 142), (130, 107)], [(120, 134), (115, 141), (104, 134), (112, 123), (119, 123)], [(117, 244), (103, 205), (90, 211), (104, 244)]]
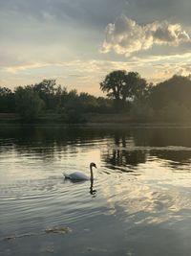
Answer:
[(133, 121), (191, 120), (191, 75), (175, 75), (153, 84), (141, 78), (138, 72), (117, 70), (100, 82), (100, 88), (114, 99), (115, 109), (128, 112)]

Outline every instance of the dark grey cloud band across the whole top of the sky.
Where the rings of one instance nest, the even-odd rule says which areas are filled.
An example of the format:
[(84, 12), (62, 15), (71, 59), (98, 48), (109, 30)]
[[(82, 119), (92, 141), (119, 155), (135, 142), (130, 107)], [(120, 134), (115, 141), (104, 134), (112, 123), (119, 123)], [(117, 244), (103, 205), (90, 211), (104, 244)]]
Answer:
[(1, 0), (0, 10), (43, 19), (47, 12), (57, 19), (72, 19), (84, 26), (102, 27), (122, 13), (139, 23), (169, 19), (190, 25), (190, 0)]

